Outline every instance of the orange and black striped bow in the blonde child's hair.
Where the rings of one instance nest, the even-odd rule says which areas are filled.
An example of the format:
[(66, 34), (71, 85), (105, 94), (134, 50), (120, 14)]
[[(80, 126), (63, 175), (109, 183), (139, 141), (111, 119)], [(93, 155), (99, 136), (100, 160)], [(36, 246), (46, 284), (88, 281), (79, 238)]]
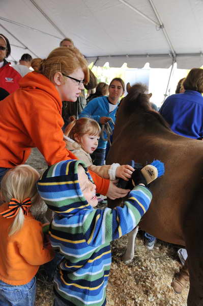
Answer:
[(31, 207), (31, 205), (32, 205), (31, 198), (26, 198), (22, 202), (20, 202), (15, 198), (12, 198), (9, 202), (9, 209), (0, 213), (0, 215), (3, 216), (4, 218), (13, 218), (17, 215), (19, 209), (21, 208), (23, 214), (27, 216), (28, 208)]

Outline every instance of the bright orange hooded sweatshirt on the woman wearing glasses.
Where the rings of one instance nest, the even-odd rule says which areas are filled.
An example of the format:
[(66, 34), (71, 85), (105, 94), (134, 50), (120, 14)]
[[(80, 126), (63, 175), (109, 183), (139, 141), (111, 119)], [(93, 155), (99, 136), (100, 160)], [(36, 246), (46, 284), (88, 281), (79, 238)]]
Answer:
[[(66, 149), (59, 92), (44, 75), (27, 73), (20, 89), (0, 103), (0, 167), (23, 164), (37, 147), (48, 165), (77, 159)], [(106, 194), (109, 181), (91, 172), (97, 192)]]

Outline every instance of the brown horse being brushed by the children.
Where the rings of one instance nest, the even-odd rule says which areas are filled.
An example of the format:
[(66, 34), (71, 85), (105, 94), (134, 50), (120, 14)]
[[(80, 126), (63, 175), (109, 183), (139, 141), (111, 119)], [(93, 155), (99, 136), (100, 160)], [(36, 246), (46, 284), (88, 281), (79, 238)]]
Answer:
[(151, 109), (145, 90), (136, 84), (122, 100), (107, 164), (164, 162), (165, 174), (151, 184), (153, 200), (139, 226), (161, 240), (186, 246), (188, 306), (203, 306), (203, 141), (173, 133)]

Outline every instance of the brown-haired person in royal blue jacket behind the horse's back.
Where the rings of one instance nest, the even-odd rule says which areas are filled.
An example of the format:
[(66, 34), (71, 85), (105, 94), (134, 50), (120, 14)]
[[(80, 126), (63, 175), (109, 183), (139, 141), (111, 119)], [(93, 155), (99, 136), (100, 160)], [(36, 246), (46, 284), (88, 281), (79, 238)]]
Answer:
[(203, 70), (193, 68), (183, 82), (184, 93), (167, 97), (160, 114), (176, 134), (188, 138), (203, 137)]

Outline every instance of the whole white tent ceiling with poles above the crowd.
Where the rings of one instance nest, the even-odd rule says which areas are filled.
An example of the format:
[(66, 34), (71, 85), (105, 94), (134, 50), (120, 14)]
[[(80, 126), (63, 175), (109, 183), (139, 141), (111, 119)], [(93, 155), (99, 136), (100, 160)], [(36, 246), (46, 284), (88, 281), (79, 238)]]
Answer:
[(45, 58), (67, 36), (98, 66), (203, 64), (202, 0), (1, 0), (0, 12), (11, 60)]

